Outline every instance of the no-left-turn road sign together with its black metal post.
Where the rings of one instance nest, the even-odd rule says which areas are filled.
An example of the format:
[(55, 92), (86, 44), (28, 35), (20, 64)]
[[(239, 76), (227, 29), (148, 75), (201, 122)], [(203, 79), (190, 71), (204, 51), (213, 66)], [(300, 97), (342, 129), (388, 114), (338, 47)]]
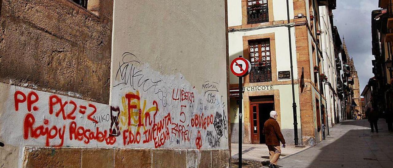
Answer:
[(243, 119), (243, 77), (248, 75), (251, 71), (250, 61), (239, 55), (239, 58), (235, 58), (231, 63), (231, 71), (233, 75), (239, 77), (239, 168), (242, 167), (242, 119)]

